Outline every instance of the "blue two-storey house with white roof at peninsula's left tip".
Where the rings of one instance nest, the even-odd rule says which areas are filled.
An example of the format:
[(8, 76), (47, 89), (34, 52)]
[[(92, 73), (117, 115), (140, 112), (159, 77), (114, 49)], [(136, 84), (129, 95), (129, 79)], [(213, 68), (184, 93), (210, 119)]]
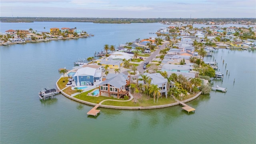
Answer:
[(93, 85), (94, 82), (101, 81), (101, 70), (96, 68), (79, 68), (73, 76), (77, 86)]

